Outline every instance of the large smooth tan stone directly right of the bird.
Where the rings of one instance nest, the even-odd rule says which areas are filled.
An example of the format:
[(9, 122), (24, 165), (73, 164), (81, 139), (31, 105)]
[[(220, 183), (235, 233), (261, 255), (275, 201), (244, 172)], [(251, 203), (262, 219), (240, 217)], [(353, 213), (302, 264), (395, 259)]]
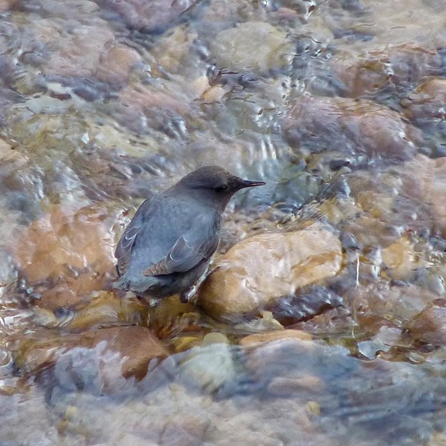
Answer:
[(341, 260), (339, 239), (317, 226), (252, 236), (215, 261), (198, 302), (217, 318), (252, 314), (302, 286), (336, 275)]

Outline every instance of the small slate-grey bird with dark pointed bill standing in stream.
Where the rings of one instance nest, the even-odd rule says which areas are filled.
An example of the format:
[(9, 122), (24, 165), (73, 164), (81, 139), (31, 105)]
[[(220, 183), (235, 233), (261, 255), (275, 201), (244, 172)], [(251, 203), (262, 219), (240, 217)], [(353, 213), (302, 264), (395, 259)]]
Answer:
[(229, 200), (240, 189), (264, 184), (206, 166), (146, 199), (116, 246), (114, 288), (149, 302), (174, 294), (188, 302), (220, 242)]

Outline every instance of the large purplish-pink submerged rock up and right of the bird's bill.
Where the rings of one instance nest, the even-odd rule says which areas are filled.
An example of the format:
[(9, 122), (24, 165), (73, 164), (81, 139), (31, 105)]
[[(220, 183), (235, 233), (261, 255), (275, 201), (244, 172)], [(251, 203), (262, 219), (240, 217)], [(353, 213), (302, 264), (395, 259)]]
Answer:
[(367, 100), (302, 96), (284, 118), (286, 139), (296, 148), (408, 160), (420, 131), (392, 110)]

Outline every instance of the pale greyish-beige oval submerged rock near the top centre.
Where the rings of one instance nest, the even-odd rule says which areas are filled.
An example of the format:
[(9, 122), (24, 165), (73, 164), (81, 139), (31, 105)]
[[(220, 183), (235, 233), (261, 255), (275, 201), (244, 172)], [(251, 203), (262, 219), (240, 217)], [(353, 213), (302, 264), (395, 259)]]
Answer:
[(222, 68), (268, 75), (288, 66), (295, 50), (278, 28), (265, 22), (246, 22), (220, 31), (210, 52)]

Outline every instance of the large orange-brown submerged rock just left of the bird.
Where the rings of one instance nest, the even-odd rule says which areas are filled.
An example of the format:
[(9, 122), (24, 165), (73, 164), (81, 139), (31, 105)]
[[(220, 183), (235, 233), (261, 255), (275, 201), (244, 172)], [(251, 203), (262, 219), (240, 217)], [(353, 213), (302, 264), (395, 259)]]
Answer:
[(41, 305), (72, 305), (102, 289), (115, 263), (110, 231), (115, 217), (95, 206), (73, 210), (53, 205), (11, 240), (10, 251), (26, 282), (44, 292)]

